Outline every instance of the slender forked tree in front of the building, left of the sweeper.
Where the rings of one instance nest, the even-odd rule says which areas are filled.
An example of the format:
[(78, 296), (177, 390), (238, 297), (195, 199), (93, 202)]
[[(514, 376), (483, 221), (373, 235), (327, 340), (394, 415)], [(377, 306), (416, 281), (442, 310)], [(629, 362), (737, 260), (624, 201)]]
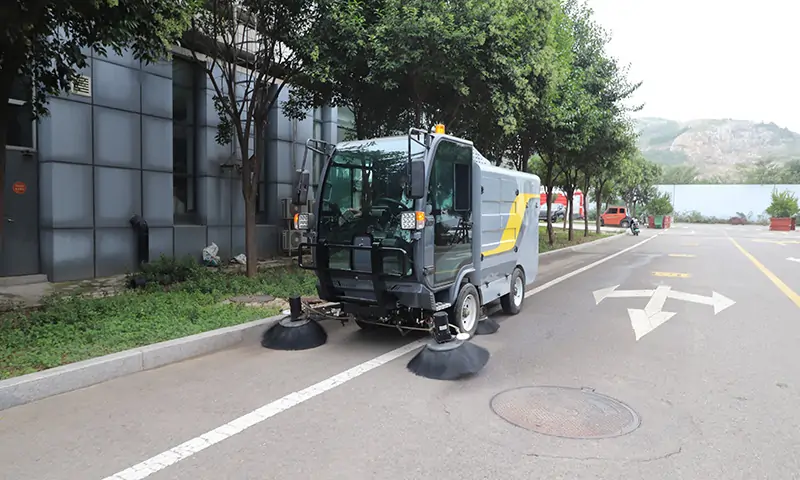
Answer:
[(187, 35), (192, 51), (207, 56), (220, 116), (216, 140), (233, 142), (238, 156), (250, 277), (258, 266), (256, 195), (269, 112), (286, 82), (317, 59), (314, 32), (326, 8), (313, 0), (207, 0)]

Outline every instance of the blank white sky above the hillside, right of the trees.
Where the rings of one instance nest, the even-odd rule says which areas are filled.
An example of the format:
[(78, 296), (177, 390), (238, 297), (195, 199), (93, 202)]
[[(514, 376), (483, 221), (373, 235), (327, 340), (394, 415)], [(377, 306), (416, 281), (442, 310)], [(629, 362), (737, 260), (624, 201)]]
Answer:
[(636, 116), (734, 118), (800, 132), (797, 0), (588, 0), (608, 52), (644, 83)]

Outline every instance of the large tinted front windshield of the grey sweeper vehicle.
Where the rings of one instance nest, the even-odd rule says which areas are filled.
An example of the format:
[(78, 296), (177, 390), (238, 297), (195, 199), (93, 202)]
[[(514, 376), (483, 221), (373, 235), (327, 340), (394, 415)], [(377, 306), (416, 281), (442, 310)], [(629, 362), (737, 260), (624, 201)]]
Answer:
[[(412, 142), (412, 155), (421, 156), (423, 147)], [(338, 148), (328, 164), (320, 190), (319, 238), (328, 243), (353, 244), (358, 237), (371, 236), (384, 247), (405, 249), (411, 268), (411, 233), (400, 229), (401, 212), (412, 210), (407, 197), (408, 138), (348, 142)], [(331, 249), (330, 268), (369, 269), (369, 254), (352, 249)], [(384, 272), (401, 274), (399, 252), (384, 254)]]

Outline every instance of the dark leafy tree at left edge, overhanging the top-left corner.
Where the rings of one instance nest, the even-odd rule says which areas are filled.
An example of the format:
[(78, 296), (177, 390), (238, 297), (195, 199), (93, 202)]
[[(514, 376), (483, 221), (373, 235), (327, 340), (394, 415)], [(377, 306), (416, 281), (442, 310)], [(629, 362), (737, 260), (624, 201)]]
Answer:
[[(8, 100), (15, 83), (30, 86), (30, 113), (47, 115), (48, 96), (71, 90), (86, 53), (108, 49), (153, 62), (169, 57), (188, 27), (196, 0), (5, 0), (0, 6), (0, 218), (6, 169)], [(0, 222), (0, 244), (5, 222)]]

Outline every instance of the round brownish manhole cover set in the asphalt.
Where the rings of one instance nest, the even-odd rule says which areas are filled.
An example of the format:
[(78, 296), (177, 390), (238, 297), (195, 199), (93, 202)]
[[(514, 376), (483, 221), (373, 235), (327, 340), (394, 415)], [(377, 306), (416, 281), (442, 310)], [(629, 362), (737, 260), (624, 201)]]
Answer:
[(515, 388), (495, 395), (491, 407), (512, 425), (555, 437), (617, 437), (640, 423), (639, 415), (624, 403), (580, 388)]

